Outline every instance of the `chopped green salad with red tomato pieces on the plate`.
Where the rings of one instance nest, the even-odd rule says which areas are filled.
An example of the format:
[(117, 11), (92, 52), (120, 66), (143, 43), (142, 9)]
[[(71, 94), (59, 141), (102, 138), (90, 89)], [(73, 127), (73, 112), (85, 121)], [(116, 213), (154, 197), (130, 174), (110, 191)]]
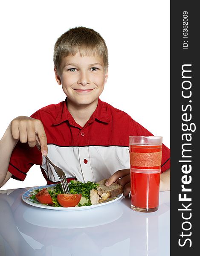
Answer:
[(92, 205), (90, 201), (90, 191), (97, 189), (99, 186), (96, 183), (87, 181), (71, 180), (68, 183), (70, 194), (63, 194), (61, 183), (54, 187), (35, 189), (30, 199), (34, 203), (51, 205), (53, 207), (81, 207)]

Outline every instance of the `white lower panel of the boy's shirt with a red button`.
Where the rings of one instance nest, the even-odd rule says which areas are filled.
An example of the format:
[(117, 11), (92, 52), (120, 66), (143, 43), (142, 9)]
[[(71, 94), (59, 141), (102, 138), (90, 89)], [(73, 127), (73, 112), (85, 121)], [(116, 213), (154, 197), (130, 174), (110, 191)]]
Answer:
[[(48, 157), (65, 172), (66, 177), (76, 177), (82, 182), (97, 182), (110, 177), (117, 170), (130, 168), (128, 147), (48, 145)], [(41, 167), (49, 180), (59, 181), (54, 168), (49, 163), (46, 164), (44, 157)]]

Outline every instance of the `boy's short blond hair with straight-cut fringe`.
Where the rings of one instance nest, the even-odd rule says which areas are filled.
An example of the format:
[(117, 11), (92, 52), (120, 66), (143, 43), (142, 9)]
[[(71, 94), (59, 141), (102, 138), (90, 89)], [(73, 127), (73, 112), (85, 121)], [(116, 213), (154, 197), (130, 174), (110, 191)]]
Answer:
[(55, 69), (61, 75), (60, 65), (63, 57), (98, 55), (103, 59), (105, 69), (108, 68), (107, 46), (101, 35), (93, 29), (75, 27), (61, 35), (55, 43), (53, 61)]

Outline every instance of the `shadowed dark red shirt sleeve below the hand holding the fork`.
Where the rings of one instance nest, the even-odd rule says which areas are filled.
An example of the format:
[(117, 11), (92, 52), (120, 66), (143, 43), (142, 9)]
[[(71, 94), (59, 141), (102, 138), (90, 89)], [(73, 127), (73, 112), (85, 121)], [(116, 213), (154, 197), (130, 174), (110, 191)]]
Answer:
[(30, 148), (28, 143), (20, 141), (12, 151), (8, 171), (12, 173), (12, 178), (23, 181), (26, 173), (34, 165), (42, 165), (41, 151), (35, 146)]

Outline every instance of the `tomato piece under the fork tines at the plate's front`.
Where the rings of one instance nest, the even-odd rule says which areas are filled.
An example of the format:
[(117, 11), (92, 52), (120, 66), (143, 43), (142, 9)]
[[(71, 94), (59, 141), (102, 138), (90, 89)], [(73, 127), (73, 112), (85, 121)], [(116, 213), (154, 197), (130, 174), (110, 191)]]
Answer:
[(81, 200), (81, 194), (58, 194), (57, 199), (62, 207), (75, 207)]

